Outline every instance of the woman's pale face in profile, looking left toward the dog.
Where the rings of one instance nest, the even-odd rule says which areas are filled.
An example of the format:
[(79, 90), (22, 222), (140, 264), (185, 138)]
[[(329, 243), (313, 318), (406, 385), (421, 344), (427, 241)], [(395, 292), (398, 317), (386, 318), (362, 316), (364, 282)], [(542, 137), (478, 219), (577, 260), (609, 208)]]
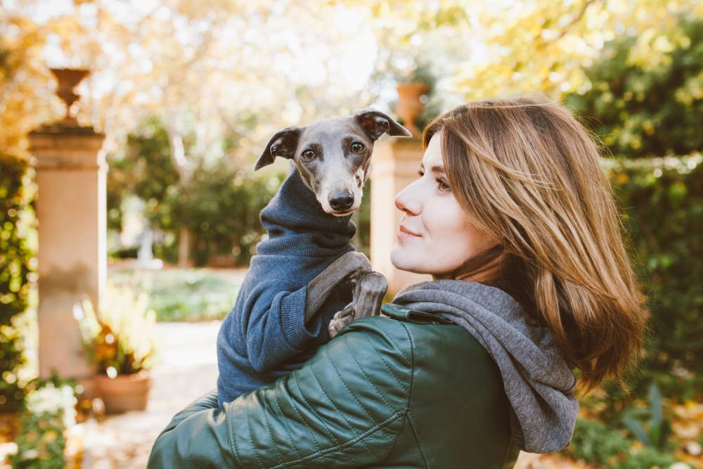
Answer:
[(465, 217), (449, 188), (441, 158), (438, 131), (427, 145), (420, 178), (396, 195), (405, 212), (391, 251), (397, 269), (439, 276), (496, 244)]

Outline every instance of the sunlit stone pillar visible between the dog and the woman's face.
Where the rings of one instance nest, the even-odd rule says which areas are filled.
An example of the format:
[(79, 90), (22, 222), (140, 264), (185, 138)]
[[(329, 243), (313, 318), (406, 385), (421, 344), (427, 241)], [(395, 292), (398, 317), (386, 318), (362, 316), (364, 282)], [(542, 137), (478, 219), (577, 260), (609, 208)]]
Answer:
[(371, 163), (371, 264), (388, 279), (388, 294), (412, 283), (432, 280), (430, 275), (396, 269), (390, 254), (404, 213), (395, 206), (397, 193), (418, 178), (423, 146), (420, 139), (378, 140)]

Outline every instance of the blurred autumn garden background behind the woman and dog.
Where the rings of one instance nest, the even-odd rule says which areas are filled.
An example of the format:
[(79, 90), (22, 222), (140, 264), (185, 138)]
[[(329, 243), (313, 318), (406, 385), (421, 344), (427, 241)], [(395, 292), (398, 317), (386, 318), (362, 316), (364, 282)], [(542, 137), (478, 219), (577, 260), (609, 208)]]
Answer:
[[(217, 378), (282, 127), (373, 106), (356, 248), (387, 261), (417, 136), (539, 93), (603, 143), (654, 333), (519, 468), (703, 468), (703, 4), (685, 0), (0, 1), (0, 465), (138, 468)], [(391, 293), (392, 293), (391, 292)], [(467, 464), (470, 464), (467, 461)]]

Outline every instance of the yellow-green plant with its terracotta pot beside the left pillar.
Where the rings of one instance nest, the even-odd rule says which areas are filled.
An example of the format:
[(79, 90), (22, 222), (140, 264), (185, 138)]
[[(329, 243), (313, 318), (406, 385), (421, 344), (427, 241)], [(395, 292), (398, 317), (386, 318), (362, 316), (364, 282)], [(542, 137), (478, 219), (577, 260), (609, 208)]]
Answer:
[(108, 413), (143, 411), (151, 387), (155, 313), (146, 295), (108, 289), (96, 315), (89, 300), (74, 307), (88, 359), (96, 367), (96, 392)]

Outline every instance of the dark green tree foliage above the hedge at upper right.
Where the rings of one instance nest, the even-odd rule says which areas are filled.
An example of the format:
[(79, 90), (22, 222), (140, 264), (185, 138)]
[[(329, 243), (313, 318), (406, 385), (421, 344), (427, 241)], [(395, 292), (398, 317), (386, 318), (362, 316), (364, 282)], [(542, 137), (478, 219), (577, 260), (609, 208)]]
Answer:
[(638, 38), (607, 44), (586, 70), (591, 89), (565, 96), (612, 153), (685, 155), (703, 148), (703, 20), (682, 20), (685, 41), (656, 65), (628, 60)]

